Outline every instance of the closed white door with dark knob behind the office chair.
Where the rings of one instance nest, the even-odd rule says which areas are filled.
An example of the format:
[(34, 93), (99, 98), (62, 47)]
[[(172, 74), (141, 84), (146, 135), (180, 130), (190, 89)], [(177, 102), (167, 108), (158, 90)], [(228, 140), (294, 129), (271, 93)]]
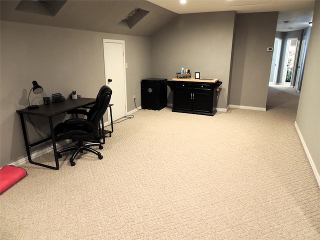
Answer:
[(124, 41), (103, 39), (105, 84), (112, 90), (112, 120), (126, 115)]

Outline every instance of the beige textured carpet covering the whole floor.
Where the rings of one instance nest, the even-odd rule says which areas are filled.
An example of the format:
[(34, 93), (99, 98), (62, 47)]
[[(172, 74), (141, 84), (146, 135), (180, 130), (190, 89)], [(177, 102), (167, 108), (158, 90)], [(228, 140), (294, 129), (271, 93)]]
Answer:
[[(267, 111), (140, 110), (99, 160), (24, 164), (1, 194), (1, 239), (320, 239), (320, 189), (293, 125), (298, 94)], [(38, 161), (53, 164), (52, 153)]]

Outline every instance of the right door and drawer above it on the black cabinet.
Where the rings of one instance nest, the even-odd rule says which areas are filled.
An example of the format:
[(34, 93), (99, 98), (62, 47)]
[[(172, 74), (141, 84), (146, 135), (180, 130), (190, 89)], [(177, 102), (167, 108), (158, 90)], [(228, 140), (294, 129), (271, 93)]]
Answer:
[(194, 84), (193, 111), (212, 113), (212, 91), (210, 84)]

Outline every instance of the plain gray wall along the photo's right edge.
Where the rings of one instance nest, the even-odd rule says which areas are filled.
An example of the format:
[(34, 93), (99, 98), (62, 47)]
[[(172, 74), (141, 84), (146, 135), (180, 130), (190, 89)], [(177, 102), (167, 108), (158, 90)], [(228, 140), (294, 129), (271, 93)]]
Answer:
[(320, 184), (320, 1), (315, 1), (296, 125)]

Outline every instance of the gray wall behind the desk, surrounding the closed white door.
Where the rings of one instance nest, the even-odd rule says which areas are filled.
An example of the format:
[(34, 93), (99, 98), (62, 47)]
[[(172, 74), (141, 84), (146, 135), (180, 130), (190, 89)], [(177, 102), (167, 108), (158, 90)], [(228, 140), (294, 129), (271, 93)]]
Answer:
[[(31, 93), (33, 104), (42, 104), (43, 96), (56, 92), (67, 96), (76, 90), (83, 97), (96, 96), (105, 84), (103, 38), (125, 41), (127, 110), (130, 111), (134, 109), (133, 94), (140, 105), (140, 80), (151, 74), (148, 37), (1, 21), (1, 166), (26, 156), (15, 111), (28, 105), (27, 94), (33, 80), (44, 89), (39, 95)], [(63, 117), (58, 116), (54, 121)], [(47, 119), (36, 116), (31, 119), (41, 135), (49, 133)], [(30, 139), (41, 139), (28, 119), (27, 123)]]

